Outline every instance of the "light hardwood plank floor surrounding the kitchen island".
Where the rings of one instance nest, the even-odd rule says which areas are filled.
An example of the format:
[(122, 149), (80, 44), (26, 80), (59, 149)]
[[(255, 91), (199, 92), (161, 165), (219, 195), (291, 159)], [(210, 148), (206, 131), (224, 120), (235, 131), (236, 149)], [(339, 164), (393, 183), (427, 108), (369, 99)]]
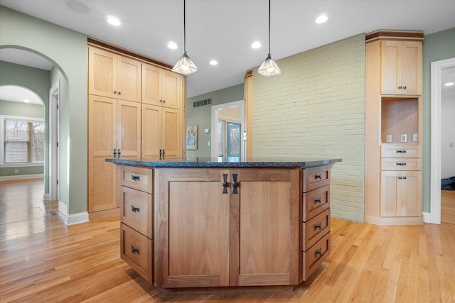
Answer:
[(455, 225), (332, 219), (332, 253), (294, 292), (164, 295), (119, 258), (119, 217), (65, 226), (43, 184), (0, 182), (0, 302), (455, 302)]

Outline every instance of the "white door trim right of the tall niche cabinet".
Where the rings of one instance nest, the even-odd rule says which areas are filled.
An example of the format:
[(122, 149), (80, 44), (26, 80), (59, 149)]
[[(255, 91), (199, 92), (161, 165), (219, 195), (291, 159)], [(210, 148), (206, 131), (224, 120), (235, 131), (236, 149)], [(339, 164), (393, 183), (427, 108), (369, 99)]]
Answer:
[(432, 62), (429, 213), (432, 224), (441, 224), (441, 70), (454, 65), (455, 57)]

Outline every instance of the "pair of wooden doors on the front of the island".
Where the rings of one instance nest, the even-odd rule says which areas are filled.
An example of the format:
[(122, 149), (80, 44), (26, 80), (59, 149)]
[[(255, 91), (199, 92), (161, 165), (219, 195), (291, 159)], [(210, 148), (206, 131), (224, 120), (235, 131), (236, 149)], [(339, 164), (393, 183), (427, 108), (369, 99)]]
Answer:
[(156, 172), (158, 287), (299, 284), (300, 170)]

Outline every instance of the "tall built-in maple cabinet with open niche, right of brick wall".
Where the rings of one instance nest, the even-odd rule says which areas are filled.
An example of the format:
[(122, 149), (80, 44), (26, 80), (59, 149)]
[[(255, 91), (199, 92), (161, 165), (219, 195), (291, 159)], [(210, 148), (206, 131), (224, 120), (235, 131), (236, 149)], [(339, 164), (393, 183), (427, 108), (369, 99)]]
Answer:
[(365, 223), (422, 224), (419, 31), (366, 35)]

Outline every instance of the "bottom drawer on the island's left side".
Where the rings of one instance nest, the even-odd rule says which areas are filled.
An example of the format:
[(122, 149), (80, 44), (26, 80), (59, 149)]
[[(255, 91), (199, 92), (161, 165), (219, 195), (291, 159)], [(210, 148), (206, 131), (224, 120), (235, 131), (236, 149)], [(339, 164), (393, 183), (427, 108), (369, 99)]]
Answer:
[(154, 241), (122, 223), (120, 256), (147, 282), (154, 283)]

